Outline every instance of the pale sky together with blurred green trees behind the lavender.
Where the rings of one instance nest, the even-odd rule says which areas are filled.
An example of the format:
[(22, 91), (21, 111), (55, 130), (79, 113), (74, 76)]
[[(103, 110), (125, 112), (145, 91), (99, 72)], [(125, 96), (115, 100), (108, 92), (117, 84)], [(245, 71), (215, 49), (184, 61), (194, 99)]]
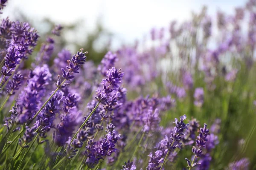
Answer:
[(9, 0), (2, 17), (29, 22), (41, 37), (61, 24), (61, 44), (71, 51), (83, 47), (99, 62), (107, 50), (150, 40), (151, 28), (168, 31), (172, 20), (191, 20), (192, 11), (201, 11), (203, 6), (215, 22), (216, 11), (231, 15), (244, 4), (244, 0)]

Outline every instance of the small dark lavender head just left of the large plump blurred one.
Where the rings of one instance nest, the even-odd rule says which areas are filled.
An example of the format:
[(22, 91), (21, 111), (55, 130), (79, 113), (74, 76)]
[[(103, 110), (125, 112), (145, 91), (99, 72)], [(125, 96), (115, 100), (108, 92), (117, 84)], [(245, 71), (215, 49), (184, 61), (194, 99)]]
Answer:
[(23, 83), (22, 74), (17, 73), (12, 77), (12, 79), (13, 80), (10, 83), (9, 88), (6, 89), (6, 94), (8, 94), (9, 96), (14, 95), (15, 90), (18, 90)]

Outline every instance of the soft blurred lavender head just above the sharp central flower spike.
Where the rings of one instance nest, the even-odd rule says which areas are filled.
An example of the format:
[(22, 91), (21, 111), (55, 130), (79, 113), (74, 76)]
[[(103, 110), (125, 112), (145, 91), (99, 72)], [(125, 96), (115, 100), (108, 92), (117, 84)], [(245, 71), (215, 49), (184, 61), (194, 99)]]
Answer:
[(98, 71), (100, 71), (103, 76), (106, 76), (108, 70), (114, 67), (116, 61), (118, 61), (116, 54), (112, 54), (111, 51), (108, 51), (103, 57), (101, 65), (98, 66)]

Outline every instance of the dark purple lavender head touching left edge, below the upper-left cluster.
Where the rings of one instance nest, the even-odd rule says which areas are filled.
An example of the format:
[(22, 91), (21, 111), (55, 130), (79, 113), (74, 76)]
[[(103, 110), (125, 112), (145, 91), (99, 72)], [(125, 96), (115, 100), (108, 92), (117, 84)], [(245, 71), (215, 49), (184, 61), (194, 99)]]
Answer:
[(1, 73), (8, 77), (11, 76), (12, 71), (18, 64), (20, 64), (20, 51), (18, 50), (17, 45), (11, 44), (7, 49), (7, 54)]

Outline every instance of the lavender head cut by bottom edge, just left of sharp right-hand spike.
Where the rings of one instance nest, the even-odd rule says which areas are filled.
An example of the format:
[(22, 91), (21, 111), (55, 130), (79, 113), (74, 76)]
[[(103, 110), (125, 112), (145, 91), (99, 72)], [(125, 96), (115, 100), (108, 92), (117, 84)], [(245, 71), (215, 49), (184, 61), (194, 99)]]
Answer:
[(161, 168), (158, 167), (160, 163), (163, 163), (163, 152), (161, 150), (157, 150), (155, 152), (155, 156), (152, 153), (148, 155), (150, 157), (150, 161), (148, 161), (148, 167), (146, 170), (159, 170)]

